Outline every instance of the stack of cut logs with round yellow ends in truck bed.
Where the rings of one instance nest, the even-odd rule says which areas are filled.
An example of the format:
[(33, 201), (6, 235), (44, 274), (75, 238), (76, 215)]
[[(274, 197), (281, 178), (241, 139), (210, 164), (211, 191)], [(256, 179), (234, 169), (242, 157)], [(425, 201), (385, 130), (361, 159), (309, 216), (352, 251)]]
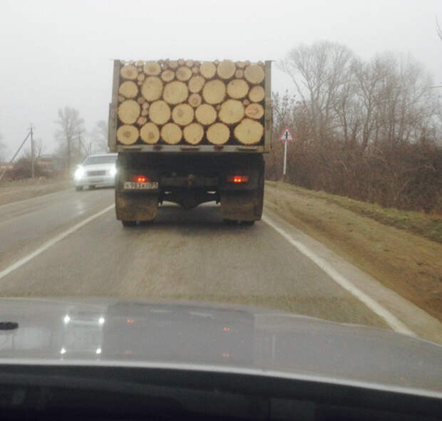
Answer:
[(264, 63), (120, 62), (117, 140), (257, 145), (264, 138)]

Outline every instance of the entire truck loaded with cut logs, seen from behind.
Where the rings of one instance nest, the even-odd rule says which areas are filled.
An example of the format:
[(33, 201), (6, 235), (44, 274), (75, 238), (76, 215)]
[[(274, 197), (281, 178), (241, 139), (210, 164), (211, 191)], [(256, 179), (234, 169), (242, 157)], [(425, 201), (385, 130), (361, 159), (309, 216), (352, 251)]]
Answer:
[(227, 223), (261, 219), (270, 71), (270, 61), (114, 61), (108, 140), (125, 227), (153, 221), (164, 201), (215, 201)]

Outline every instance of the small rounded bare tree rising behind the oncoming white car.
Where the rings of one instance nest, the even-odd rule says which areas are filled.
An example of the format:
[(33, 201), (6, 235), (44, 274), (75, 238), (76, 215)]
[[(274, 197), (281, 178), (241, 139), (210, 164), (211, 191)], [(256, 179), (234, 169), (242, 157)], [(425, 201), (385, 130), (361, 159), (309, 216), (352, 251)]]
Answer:
[(65, 107), (58, 110), (56, 120), (58, 130), (56, 139), (60, 143), (57, 155), (63, 166), (71, 170), (74, 160), (81, 160), (83, 154), (82, 138), (84, 135), (84, 120), (76, 108)]

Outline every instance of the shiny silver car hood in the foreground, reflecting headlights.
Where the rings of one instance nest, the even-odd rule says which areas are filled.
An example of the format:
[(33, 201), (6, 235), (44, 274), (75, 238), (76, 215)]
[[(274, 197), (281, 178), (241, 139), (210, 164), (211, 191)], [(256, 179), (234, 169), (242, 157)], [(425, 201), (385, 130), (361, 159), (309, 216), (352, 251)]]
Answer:
[[(240, 306), (0, 299), (1, 364), (209, 367), (442, 396), (442, 346), (393, 331)], [(9, 330), (8, 330), (9, 329)]]

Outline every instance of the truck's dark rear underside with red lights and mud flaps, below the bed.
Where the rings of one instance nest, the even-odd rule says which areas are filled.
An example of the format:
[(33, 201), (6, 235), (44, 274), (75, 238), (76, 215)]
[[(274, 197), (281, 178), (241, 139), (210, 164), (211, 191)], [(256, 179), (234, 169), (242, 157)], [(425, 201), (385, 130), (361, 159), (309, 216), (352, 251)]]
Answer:
[(263, 195), (261, 154), (118, 154), (115, 210), (125, 226), (153, 221), (163, 202), (191, 209), (212, 201), (225, 222), (252, 224), (261, 219)]

